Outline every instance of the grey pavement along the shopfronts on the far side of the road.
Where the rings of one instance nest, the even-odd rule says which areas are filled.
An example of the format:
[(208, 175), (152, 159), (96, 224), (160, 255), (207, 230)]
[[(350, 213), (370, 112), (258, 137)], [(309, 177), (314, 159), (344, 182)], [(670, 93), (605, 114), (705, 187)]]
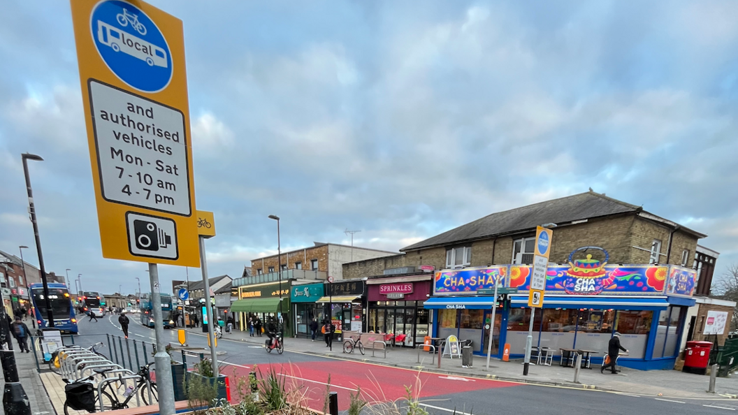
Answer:
[[(201, 329), (187, 329), (187, 332), (193, 335), (203, 335)], [(236, 331), (230, 335), (225, 333), (224, 338), (258, 345), (262, 345), (266, 339), (266, 337), (249, 337), (248, 332)], [(714, 396), (714, 394), (708, 394), (707, 392), (709, 376), (689, 374), (682, 371), (639, 371), (618, 367), (621, 372), (613, 375), (607, 371), (601, 374), (599, 366), (593, 366), (593, 368), (579, 371), (579, 383), (574, 383), (574, 369), (559, 366), (559, 363), (556, 362), (552, 366), (531, 366), (528, 376), (523, 376), (522, 360), (503, 362), (493, 358), (490, 360), (488, 371), (486, 369), (486, 357), (475, 355), (472, 368), (463, 368), (460, 359), (444, 357), (441, 360), (441, 368), (438, 368), (438, 354), (430, 354), (424, 351), (418, 354), (418, 349), (387, 347), (386, 358), (384, 357), (384, 351), (379, 349), (374, 352), (374, 357), (372, 357), (371, 349), (366, 349), (366, 354), (362, 356), (359, 351), (354, 351), (353, 354), (343, 353), (342, 344), (342, 342), (334, 340), (333, 350), (329, 351), (322, 339), (316, 339), (313, 342), (305, 338), (289, 338), (285, 340), (285, 349), (342, 360), (376, 363), (383, 366), (537, 385), (559, 385), (570, 388), (617, 391), (626, 394), (638, 394), (639, 396), (664, 398)], [(718, 377), (715, 391), (717, 396), (736, 398), (738, 396), (738, 377)]]

